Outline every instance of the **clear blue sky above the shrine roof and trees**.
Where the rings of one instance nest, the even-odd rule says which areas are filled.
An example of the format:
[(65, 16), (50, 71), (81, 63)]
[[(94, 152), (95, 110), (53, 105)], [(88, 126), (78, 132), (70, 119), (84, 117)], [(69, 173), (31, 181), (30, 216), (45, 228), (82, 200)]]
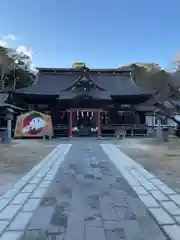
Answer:
[(33, 51), (35, 66), (117, 67), (180, 49), (179, 0), (1, 0), (0, 39)]

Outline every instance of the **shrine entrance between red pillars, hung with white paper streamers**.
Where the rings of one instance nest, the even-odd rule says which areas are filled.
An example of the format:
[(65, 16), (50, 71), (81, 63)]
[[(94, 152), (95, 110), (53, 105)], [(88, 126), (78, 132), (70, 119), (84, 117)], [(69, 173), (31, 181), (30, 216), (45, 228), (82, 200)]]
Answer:
[(69, 109), (69, 136), (101, 135), (100, 109)]

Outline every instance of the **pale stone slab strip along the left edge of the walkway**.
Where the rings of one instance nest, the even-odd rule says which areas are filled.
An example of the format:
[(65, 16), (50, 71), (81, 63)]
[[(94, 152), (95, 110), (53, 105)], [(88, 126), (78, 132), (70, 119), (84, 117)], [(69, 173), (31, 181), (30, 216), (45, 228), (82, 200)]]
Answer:
[(13, 189), (1, 196), (0, 240), (21, 238), (70, 148), (71, 144), (58, 145)]

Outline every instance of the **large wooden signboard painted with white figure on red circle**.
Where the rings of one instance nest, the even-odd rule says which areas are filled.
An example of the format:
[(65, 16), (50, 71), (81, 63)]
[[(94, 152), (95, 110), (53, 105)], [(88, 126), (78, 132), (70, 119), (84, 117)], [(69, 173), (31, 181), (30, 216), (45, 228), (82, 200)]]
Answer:
[(52, 136), (51, 116), (32, 111), (17, 117), (15, 137), (42, 137)]

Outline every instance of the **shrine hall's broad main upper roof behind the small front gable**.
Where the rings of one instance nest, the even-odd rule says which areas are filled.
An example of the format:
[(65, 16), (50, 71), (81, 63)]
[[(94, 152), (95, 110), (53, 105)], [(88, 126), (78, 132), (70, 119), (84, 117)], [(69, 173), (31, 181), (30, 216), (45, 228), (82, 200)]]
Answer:
[[(19, 94), (36, 95), (57, 95), (62, 94), (62, 90), (71, 87), (81, 76), (89, 76), (99, 89), (106, 90), (111, 96), (136, 96), (152, 95), (137, 86), (130, 71), (119, 69), (39, 69), (36, 82), (15, 92)], [(65, 94), (65, 92), (64, 92)]]

